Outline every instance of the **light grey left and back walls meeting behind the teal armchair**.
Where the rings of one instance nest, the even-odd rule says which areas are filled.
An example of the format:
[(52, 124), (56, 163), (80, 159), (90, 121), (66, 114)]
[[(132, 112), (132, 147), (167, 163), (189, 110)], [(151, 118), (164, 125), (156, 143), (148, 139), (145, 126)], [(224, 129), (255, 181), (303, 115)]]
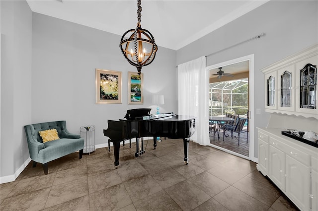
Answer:
[[(26, 1), (0, 2), (1, 183), (14, 180), (29, 160), (24, 125), (66, 120), (79, 134), (80, 126), (93, 124), (96, 144), (106, 145), (107, 120), (134, 108), (155, 113), (154, 94), (164, 95), (160, 112), (177, 111), (175, 51), (159, 47), (142, 69), (144, 104), (128, 105), (127, 72), (137, 70), (120, 52), (121, 36), (32, 13)], [(122, 71), (122, 104), (95, 104), (95, 68)]]

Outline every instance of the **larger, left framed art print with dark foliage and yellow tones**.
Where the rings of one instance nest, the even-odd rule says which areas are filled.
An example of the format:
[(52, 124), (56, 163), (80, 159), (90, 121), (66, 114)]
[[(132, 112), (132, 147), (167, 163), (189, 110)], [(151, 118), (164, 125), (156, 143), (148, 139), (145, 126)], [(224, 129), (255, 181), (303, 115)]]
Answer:
[(95, 69), (95, 103), (121, 104), (122, 72)]

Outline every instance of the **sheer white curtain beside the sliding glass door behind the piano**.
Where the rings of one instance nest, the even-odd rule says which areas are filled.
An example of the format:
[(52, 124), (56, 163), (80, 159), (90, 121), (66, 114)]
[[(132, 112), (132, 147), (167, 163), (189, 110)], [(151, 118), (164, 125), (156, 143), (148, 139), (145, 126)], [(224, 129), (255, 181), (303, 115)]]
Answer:
[(178, 114), (195, 116), (195, 133), (191, 140), (209, 145), (209, 72), (206, 58), (178, 65)]

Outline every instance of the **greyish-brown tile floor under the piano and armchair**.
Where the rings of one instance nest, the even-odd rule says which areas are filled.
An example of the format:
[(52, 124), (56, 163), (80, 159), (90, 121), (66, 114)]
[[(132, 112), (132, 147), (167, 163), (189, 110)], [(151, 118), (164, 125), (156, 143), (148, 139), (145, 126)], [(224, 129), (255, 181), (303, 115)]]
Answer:
[[(145, 141), (145, 145), (147, 141)], [(72, 153), (42, 166), (29, 164), (0, 185), (1, 211), (295, 211), (256, 163), (190, 141), (189, 164), (182, 140), (165, 140), (134, 157), (135, 145), (113, 153)]]

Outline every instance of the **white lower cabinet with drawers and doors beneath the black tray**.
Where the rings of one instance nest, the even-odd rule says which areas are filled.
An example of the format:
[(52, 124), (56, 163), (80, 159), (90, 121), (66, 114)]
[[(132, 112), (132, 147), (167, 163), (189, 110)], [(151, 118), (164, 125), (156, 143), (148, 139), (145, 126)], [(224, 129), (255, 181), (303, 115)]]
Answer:
[(318, 211), (318, 148), (258, 128), (258, 163), (264, 176), (302, 211)]

